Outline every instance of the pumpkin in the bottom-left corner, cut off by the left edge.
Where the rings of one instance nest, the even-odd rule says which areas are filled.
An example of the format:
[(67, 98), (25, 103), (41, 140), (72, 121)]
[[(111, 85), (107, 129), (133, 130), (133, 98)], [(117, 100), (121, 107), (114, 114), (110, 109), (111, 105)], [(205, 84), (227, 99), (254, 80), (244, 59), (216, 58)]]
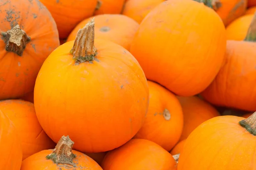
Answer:
[(20, 170), (22, 149), (12, 121), (0, 110), (0, 170)]

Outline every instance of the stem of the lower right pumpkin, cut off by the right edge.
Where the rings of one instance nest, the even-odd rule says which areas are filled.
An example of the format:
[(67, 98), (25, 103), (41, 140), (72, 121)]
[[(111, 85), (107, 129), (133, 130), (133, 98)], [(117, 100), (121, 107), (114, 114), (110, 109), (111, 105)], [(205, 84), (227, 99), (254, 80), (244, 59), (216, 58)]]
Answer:
[(256, 136), (256, 112), (254, 112), (250, 117), (247, 119), (241, 120), (239, 125), (244, 127), (249, 133)]

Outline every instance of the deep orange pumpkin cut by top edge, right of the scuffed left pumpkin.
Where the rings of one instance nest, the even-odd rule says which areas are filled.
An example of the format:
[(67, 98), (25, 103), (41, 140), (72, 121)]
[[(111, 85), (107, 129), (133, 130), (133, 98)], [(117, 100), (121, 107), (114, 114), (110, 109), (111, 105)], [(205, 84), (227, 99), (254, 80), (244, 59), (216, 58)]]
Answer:
[(93, 16), (97, 0), (40, 0), (56, 21), (59, 37), (67, 38), (84, 18)]

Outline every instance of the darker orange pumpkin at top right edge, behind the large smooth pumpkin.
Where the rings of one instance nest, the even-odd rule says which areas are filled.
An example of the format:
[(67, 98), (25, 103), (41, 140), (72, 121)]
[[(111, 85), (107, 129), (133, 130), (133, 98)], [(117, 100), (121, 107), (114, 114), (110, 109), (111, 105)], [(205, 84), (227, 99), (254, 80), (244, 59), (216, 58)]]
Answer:
[(247, 8), (247, 0), (195, 0), (213, 8), (225, 26), (242, 16)]

